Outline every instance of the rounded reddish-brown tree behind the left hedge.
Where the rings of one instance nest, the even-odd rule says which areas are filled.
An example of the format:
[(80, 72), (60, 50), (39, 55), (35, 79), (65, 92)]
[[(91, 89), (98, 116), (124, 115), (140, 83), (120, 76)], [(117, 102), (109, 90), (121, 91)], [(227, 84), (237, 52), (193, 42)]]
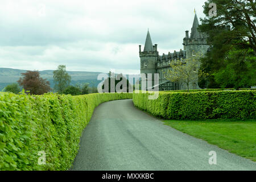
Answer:
[(50, 92), (49, 81), (40, 77), (39, 71), (27, 71), (26, 73), (21, 73), (21, 75), (22, 77), (19, 78), (18, 83), (24, 90), (36, 95)]

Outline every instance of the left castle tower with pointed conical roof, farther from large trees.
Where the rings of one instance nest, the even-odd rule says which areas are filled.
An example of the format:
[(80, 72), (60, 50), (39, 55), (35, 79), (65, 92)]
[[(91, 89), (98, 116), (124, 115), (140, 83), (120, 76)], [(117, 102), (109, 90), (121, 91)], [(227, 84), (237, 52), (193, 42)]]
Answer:
[(143, 52), (141, 51), (141, 46), (139, 46), (139, 57), (141, 58), (141, 73), (145, 73), (146, 77), (148, 73), (152, 73), (152, 86), (154, 85), (154, 73), (156, 73), (156, 60), (158, 57), (157, 46), (157, 44), (155, 46), (152, 45), (150, 32), (147, 31)]

